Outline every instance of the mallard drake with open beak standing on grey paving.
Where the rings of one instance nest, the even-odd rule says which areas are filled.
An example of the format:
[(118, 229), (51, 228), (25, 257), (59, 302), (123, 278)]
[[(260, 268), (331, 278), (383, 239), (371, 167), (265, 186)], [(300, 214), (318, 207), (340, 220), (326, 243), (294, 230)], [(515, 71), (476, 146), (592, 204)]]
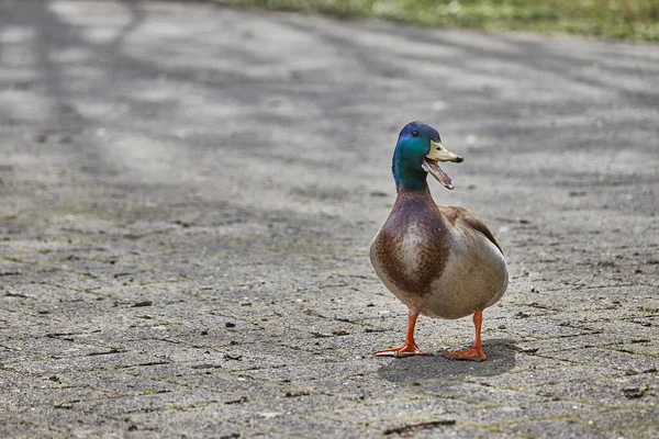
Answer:
[(473, 315), (476, 340), (471, 349), (444, 353), (458, 360), (483, 361), (483, 309), (495, 304), (507, 288), (507, 268), (501, 246), (473, 212), (438, 206), (426, 183), (431, 173), (453, 190), (439, 161), (462, 162), (442, 144), (433, 126), (412, 122), (401, 131), (393, 153), (395, 203), (370, 248), (370, 259), (384, 285), (409, 309), (405, 344), (377, 356), (427, 354), (414, 341), (418, 315), (460, 318)]

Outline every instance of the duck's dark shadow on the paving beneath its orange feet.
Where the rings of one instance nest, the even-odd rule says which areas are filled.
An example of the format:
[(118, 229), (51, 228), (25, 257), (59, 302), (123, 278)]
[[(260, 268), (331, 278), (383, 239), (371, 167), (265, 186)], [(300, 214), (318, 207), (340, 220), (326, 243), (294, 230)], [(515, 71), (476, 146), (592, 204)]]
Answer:
[(444, 352), (433, 356), (415, 356), (387, 361), (378, 374), (384, 380), (396, 383), (413, 383), (422, 380), (454, 379), (472, 375), (499, 375), (515, 367), (515, 348), (513, 340), (491, 339), (483, 341), (487, 361), (457, 361), (442, 357)]

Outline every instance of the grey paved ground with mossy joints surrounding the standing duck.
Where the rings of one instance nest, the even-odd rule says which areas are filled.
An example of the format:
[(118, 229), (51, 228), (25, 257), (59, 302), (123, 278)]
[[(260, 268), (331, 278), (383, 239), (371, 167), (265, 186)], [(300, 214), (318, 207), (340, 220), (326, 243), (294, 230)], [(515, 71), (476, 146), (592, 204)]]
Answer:
[[(659, 46), (24, 0), (0, 44), (1, 437), (659, 437)], [(371, 356), (416, 119), (509, 259), (484, 363)]]

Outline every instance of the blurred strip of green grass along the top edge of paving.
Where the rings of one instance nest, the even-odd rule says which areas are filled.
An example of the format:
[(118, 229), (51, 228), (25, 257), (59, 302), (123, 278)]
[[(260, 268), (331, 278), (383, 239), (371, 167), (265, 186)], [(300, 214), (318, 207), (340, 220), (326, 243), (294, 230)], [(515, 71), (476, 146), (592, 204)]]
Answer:
[(439, 27), (570, 33), (659, 42), (658, 0), (213, 0), (275, 11)]

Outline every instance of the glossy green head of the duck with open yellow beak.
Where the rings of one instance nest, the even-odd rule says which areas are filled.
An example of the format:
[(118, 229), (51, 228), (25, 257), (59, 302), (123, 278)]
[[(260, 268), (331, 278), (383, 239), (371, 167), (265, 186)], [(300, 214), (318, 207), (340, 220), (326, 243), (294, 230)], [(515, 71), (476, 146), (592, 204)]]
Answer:
[(426, 176), (433, 175), (446, 189), (453, 180), (439, 168), (439, 161), (460, 164), (463, 158), (442, 145), (439, 132), (423, 122), (411, 122), (399, 135), (393, 153), (392, 171), (396, 188), (425, 189)]

